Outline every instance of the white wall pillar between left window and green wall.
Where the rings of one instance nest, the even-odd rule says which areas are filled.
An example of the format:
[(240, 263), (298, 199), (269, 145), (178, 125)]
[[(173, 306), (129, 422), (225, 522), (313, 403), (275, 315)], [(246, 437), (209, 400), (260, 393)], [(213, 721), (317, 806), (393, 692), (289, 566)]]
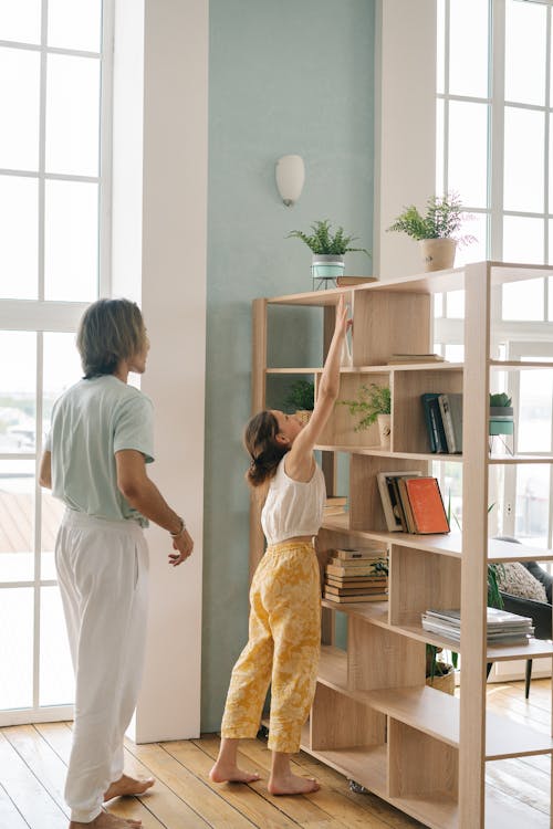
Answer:
[(119, 0), (115, 21), (113, 292), (142, 302), (152, 342), (142, 388), (156, 411), (149, 474), (196, 543), (174, 569), (168, 534), (147, 534), (137, 742), (200, 728), (208, 8), (208, 0)]

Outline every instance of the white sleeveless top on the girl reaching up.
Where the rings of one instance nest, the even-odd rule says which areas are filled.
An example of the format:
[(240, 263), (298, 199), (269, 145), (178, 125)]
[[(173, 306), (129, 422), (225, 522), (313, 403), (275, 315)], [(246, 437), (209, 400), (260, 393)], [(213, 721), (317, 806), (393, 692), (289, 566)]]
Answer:
[(284, 470), (285, 458), (271, 480), (261, 512), (261, 526), (269, 545), (298, 535), (316, 535), (323, 523), (326, 487), (322, 469), (315, 464), (311, 481), (293, 481)]

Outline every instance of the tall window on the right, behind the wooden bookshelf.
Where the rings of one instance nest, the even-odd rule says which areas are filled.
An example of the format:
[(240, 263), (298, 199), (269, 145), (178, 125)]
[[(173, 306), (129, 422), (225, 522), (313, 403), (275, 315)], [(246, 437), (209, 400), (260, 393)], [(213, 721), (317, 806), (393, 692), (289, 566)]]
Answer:
[[(459, 192), (474, 217), (463, 232), (478, 240), (457, 261), (553, 264), (553, 0), (437, 0), (437, 32), (436, 191)], [(552, 288), (551, 279), (513, 282), (492, 297), (493, 356), (553, 359)], [(462, 297), (440, 296), (435, 314), (436, 349), (462, 359)], [(521, 453), (553, 451), (552, 378), (546, 368), (492, 372), (492, 390), (513, 398)], [(455, 507), (461, 483), (451, 465), (442, 483)], [(549, 466), (497, 466), (495, 473), (492, 532), (550, 547)]]

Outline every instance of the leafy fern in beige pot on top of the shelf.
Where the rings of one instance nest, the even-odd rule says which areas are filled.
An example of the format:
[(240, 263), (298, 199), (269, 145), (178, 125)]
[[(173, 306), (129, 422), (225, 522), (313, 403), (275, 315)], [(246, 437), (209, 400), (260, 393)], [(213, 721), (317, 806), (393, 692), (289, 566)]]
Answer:
[(415, 204), (405, 208), (389, 231), (407, 233), (419, 242), (427, 271), (452, 267), (458, 244), (476, 241), (471, 235), (456, 235), (463, 221), (470, 219), (456, 192), (431, 196), (422, 216)]

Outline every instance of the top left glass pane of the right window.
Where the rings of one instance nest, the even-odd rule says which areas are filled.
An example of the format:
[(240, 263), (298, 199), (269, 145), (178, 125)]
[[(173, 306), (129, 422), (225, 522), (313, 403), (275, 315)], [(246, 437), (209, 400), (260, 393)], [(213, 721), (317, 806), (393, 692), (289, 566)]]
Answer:
[(488, 96), (488, 3), (450, 0), (449, 92)]

